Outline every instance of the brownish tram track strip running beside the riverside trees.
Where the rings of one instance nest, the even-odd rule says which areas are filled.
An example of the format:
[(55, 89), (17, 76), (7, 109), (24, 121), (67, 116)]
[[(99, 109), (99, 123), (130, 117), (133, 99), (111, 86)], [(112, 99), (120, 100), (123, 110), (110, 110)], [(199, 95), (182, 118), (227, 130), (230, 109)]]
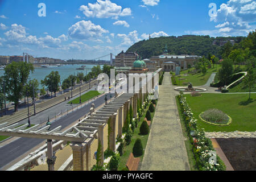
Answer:
[[(93, 80), (90, 83), (90, 86), (93, 86), (94, 84), (98, 83), (97, 80)], [(89, 83), (85, 84), (83, 86), (81, 86), (81, 92), (84, 92), (85, 90), (89, 89)], [(75, 90), (73, 90), (73, 96), (77, 96), (79, 94), (79, 88), (76, 88)], [(51, 100), (47, 100), (45, 102), (42, 102), (40, 104), (36, 105), (36, 113), (39, 113), (43, 110), (48, 109), (49, 107), (52, 107), (56, 104), (59, 104), (61, 102), (63, 102), (65, 100), (65, 97), (71, 97), (71, 92), (68, 93), (64, 93), (61, 96), (58, 97), (54, 97)], [(34, 106), (29, 107), (30, 109), (30, 113), (34, 113)], [(27, 110), (26, 109), (22, 109), (17, 111), (16, 113), (14, 113), (13, 115), (4, 115), (2, 118), (0, 118), (0, 124), (1, 123), (5, 123), (5, 122), (9, 122), (10, 125), (19, 121), (22, 121), (23, 119), (28, 118), (27, 115)]]

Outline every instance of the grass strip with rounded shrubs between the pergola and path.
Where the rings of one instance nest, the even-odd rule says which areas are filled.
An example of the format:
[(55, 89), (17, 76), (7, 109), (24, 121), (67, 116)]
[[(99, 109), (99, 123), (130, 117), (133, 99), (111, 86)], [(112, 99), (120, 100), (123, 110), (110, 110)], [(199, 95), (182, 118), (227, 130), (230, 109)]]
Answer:
[[(156, 104), (157, 104), (157, 102), (158, 101), (156, 101)], [(125, 146), (125, 148), (123, 150), (123, 155), (120, 157), (120, 163), (119, 163), (119, 166), (118, 166), (118, 171), (121, 171), (123, 168), (126, 167), (127, 160), (129, 158), (130, 153), (133, 152), (133, 146), (134, 146), (134, 143), (135, 143), (137, 138), (141, 139), (142, 146), (143, 146), (144, 150), (146, 148), (149, 133), (147, 135), (139, 135), (139, 133), (140, 133), (139, 127), (141, 127), (141, 124), (144, 121), (146, 111), (148, 110), (149, 106), (150, 106), (150, 104), (148, 104), (147, 109), (145, 109), (144, 114), (141, 117), (141, 122), (138, 123), (138, 127), (134, 130), (133, 137), (131, 138), (131, 143), (129, 144), (129, 146)], [(154, 117), (154, 114), (155, 114), (155, 112), (151, 113), (151, 118), (152, 119)], [(144, 156), (144, 152), (143, 152), (143, 155), (139, 157), (141, 159), (140, 163), (142, 163), (143, 156)]]

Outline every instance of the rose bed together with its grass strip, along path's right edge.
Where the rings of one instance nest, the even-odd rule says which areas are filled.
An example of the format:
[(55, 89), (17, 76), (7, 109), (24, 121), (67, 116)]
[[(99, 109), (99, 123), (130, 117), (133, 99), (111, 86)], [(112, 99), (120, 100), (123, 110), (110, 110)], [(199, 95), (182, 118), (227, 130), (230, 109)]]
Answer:
[[(204, 130), (197, 126), (197, 119), (187, 102), (183, 92), (176, 97), (181, 127), (185, 138), (189, 166), (192, 171), (225, 171), (226, 166), (216, 155), (212, 142), (205, 137)], [(216, 162), (212, 160), (216, 155)]]

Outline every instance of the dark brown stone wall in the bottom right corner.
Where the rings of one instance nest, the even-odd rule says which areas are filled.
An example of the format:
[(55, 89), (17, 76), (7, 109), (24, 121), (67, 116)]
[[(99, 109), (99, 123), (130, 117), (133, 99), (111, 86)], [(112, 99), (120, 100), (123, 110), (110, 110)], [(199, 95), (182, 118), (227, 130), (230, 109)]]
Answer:
[(235, 171), (256, 170), (256, 138), (216, 138)]

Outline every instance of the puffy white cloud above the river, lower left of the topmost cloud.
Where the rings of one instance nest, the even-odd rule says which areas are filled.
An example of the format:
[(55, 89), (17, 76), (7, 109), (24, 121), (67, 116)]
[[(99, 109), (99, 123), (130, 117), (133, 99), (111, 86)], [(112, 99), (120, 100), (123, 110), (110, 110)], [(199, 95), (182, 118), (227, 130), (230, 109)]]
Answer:
[(93, 24), (90, 20), (81, 20), (68, 29), (68, 35), (71, 38), (80, 40), (97, 40), (102, 34), (108, 32), (100, 25)]

